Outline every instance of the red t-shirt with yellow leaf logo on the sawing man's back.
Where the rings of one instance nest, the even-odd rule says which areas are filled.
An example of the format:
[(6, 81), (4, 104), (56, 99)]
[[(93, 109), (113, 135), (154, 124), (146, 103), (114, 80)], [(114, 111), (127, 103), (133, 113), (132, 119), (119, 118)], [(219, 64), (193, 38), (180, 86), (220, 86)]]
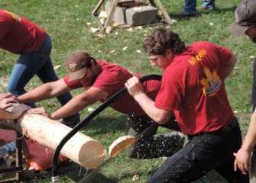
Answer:
[(230, 50), (208, 42), (193, 43), (164, 71), (155, 106), (174, 111), (185, 134), (218, 130), (235, 117), (222, 77)]

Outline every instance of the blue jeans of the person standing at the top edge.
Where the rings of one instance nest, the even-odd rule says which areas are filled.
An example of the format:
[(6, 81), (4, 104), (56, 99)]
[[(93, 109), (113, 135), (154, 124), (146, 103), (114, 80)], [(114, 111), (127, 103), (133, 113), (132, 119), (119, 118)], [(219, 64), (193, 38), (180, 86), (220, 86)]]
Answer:
[[(215, 0), (203, 0), (202, 6), (206, 9), (215, 8)], [(196, 0), (185, 0), (183, 12), (187, 15), (196, 15)]]

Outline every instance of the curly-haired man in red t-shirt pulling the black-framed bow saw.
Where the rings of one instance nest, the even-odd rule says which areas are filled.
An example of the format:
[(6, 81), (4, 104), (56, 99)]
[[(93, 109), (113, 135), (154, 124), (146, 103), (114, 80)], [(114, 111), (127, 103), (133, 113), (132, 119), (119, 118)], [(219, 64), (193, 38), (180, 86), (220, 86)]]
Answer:
[(212, 169), (228, 182), (248, 182), (248, 175), (233, 169), (233, 152), (241, 146), (241, 130), (224, 82), (236, 57), (206, 41), (186, 47), (178, 34), (164, 28), (147, 37), (144, 50), (151, 65), (164, 70), (160, 92), (152, 101), (136, 76), (125, 83), (128, 92), (159, 124), (165, 124), (174, 113), (189, 139), (148, 182), (192, 182)]

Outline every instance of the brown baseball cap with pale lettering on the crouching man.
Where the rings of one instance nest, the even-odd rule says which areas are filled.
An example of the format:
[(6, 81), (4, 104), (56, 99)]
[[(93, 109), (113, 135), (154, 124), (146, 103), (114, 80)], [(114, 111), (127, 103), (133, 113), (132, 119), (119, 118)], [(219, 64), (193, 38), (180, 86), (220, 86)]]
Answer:
[(70, 54), (66, 60), (68, 70), (68, 81), (83, 78), (86, 75), (86, 69), (92, 57), (83, 50), (77, 50)]

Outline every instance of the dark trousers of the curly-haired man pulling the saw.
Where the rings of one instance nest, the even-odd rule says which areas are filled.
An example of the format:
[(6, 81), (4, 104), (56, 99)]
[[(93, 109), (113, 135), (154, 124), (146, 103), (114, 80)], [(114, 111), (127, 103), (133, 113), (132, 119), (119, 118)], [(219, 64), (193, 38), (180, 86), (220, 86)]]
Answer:
[(248, 175), (234, 171), (233, 152), (241, 147), (241, 130), (238, 124), (228, 132), (199, 133), (188, 137), (189, 143), (170, 156), (147, 183), (188, 183), (203, 177), (212, 169), (228, 182), (249, 182)]

